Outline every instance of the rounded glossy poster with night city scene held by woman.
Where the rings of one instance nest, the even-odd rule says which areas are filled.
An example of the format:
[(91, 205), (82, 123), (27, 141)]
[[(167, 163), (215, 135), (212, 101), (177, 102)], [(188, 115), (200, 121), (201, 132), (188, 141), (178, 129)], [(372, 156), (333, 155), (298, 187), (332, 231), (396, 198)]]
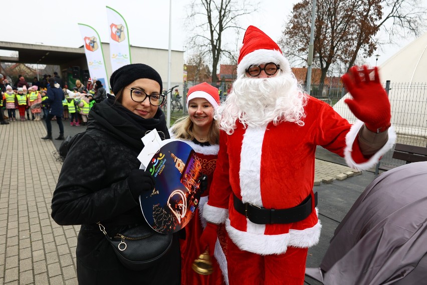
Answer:
[(174, 233), (192, 218), (200, 200), (201, 163), (183, 141), (168, 139), (147, 165), (152, 192), (139, 196), (147, 223), (159, 233)]

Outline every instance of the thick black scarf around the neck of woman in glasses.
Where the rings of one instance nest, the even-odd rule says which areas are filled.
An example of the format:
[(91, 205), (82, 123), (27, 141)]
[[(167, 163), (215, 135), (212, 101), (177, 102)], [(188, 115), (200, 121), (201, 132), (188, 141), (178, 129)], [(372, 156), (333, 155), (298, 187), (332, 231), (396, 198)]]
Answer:
[(153, 118), (145, 119), (123, 107), (111, 95), (108, 95), (106, 100), (93, 105), (89, 112), (87, 128), (98, 128), (97, 125), (106, 128), (118, 139), (137, 150), (142, 150), (144, 147), (141, 137), (154, 128), (162, 140), (170, 138), (161, 108), (157, 109)]

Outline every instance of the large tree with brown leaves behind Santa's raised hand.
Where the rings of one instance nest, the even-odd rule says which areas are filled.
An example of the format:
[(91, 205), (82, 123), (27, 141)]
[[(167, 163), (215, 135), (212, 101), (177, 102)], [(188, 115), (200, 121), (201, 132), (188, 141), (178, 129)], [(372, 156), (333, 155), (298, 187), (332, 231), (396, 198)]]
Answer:
[[(311, 7), (310, 0), (294, 5), (279, 41), (296, 63), (307, 59)], [(313, 62), (322, 70), (320, 83), (331, 65), (343, 63), (348, 70), (358, 56), (372, 56), (380, 45), (375, 38), (380, 29), (390, 34), (389, 43), (391, 34), (418, 35), (424, 17), (419, 0), (318, 0)]]

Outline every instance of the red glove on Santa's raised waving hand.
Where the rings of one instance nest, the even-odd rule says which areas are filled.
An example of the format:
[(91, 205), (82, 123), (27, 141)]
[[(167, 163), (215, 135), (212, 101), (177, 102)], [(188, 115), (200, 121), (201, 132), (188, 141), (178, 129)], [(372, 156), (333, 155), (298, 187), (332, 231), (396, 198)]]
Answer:
[[(344, 74), (341, 79), (353, 99), (345, 99), (351, 112), (366, 127), (375, 133), (387, 130), (391, 123), (391, 108), (387, 93), (379, 82), (378, 69), (375, 67), (374, 80), (370, 80), (366, 66), (363, 66), (364, 79), (360, 77), (358, 67), (353, 66), (350, 74)], [(350, 78), (350, 75), (353, 78)]]

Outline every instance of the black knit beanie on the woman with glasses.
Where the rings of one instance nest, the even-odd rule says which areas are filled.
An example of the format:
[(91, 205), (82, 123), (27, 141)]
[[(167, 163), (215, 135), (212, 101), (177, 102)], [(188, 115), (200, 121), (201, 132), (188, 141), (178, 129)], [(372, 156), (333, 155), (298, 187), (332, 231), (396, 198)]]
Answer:
[(147, 78), (157, 81), (160, 85), (159, 93), (163, 89), (160, 74), (152, 67), (143, 63), (128, 64), (120, 67), (111, 74), (110, 87), (114, 94), (117, 94), (122, 88), (129, 85), (139, 78)]

